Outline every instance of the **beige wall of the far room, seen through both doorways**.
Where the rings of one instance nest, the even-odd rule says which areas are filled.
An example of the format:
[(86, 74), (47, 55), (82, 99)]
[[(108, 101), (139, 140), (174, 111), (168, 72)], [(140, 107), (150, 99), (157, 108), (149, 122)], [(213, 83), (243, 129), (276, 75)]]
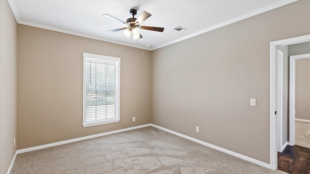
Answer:
[(296, 59), (295, 110), (296, 118), (310, 120), (310, 58)]

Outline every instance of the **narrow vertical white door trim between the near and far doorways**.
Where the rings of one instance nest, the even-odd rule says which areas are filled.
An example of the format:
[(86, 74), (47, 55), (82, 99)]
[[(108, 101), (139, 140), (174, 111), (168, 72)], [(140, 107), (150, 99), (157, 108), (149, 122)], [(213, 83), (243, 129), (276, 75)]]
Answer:
[(282, 152), (282, 137), (283, 137), (283, 52), (278, 49), (277, 53), (277, 148), (278, 152)]

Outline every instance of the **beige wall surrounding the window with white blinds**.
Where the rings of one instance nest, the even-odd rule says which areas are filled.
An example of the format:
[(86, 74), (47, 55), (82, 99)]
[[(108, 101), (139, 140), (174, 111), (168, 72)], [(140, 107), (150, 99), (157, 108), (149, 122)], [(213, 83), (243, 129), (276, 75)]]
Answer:
[[(82, 127), (84, 52), (121, 58), (118, 123)], [(17, 149), (151, 123), (151, 73), (150, 51), (18, 25)]]

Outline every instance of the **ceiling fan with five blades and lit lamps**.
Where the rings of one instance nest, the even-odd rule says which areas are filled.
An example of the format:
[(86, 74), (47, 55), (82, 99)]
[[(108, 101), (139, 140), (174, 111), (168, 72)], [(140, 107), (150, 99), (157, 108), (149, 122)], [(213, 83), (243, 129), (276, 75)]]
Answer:
[(145, 21), (147, 18), (149, 18), (152, 14), (149, 14), (148, 12), (145, 12), (143, 11), (140, 16), (138, 18), (135, 18), (135, 15), (137, 14), (137, 10), (132, 8), (129, 10), (130, 14), (132, 15), (131, 18), (128, 18), (125, 21), (122, 21), (121, 19), (118, 19), (116, 17), (113, 17), (109, 14), (102, 14), (103, 16), (109, 18), (109, 19), (112, 19), (112, 20), (115, 20), (117, 22), (121, 22), (125, 25), (127, 25), (128, 27), (124, 27), (124, 28), (120, 28), (120, 29), (112, 29), (112, 30), (109, 30), (107, 32), (109, 33), (113, 33), (113, 32), (116, 32), (116, 31), (120, 31), (120, 30), (124, 30), (124, 35), (126, 37), (130, 37), (131, 33), (132, 33), (132, 36), (133, 36), (133, 39), (140, 39), (142, 38), (142, 35), (140, 34), (140, 31), (138, 30), (138, 28), (140, 29), (147, 29), (147, 30), (152, 30), (152, 31), (159, 31), (159, 32), (163, 32), (165, 28), (160, 28), (160, 27), (149, 27), (149, 26), (140, 26), (142, 24), (143, 21)]

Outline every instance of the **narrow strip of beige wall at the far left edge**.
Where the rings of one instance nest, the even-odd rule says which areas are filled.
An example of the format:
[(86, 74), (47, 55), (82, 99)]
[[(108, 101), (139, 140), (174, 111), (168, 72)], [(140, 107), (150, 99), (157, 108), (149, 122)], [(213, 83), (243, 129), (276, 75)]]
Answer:
[[(7, 0), (0, 0), (0, 174), (16, 152), (17, 23)], [(18, 140), (16, 140), (18, 141)]]

